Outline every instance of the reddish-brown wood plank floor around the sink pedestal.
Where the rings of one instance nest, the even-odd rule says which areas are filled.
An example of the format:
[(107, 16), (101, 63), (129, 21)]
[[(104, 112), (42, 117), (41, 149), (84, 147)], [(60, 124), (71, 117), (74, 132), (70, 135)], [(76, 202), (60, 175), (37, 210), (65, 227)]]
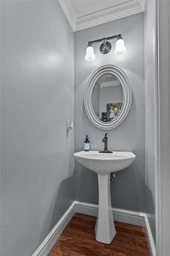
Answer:
[(145, 229), (115, 221), (111, 244), (95, 240), (96, 217), (75, 213), (48, 256), (150, 256)]

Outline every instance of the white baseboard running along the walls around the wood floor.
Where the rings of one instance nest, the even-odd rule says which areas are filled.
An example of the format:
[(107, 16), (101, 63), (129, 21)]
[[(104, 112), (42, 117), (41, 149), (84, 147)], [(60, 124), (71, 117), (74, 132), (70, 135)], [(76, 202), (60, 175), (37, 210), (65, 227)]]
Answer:
[[(115, 221), (145, 227), (150, 254), (151, 256), (156, 256), (156, 250), (150, 231), (147, 215), (145, 213), (116, 208), (112, 208), (112, 211)], [(72, 216), (76, 212), (97, 217), (98, 205), (74, 201), (32, 256), (47, 256), (49, 251), (67, 226), (68, 222), (71, 220)]]

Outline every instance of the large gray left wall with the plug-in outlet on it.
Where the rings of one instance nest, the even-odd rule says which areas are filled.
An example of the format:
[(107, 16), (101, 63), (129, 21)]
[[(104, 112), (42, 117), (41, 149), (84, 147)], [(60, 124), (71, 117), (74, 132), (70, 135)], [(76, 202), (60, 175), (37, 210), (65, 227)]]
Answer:
[(1, 256), (31, 256), (74, 200), (73, 51), (57, 1), (1, 1)]

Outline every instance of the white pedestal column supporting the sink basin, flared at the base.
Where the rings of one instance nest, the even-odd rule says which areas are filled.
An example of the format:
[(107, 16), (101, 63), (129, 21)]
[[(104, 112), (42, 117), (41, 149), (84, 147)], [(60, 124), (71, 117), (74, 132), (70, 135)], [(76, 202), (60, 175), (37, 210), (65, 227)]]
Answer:
[(95, 235), (98, 242), (110, 244), (116, 235), (110, 196), (110, 173), (105, 175), (98, 174), (98, 184), (99, 211)]

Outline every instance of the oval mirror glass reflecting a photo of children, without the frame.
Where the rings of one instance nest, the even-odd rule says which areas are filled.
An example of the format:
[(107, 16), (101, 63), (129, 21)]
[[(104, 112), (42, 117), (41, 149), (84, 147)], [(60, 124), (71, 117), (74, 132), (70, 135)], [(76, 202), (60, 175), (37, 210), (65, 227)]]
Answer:
[(105, 73), (93, 88), (92, 105), (96, 116), (103, 122), (118, 118), (123, 105), (123, 88), (117, 76)]

